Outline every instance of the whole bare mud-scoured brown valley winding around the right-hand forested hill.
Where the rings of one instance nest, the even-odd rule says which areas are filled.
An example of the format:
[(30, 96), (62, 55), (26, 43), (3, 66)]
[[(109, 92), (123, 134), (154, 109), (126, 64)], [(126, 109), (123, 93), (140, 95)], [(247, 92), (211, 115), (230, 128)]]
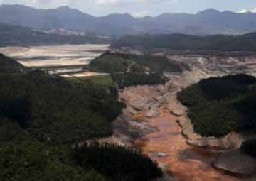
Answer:
[[(124, 88), (119, 93), (119, 97), (127, 104), (127, 109), (124, 109), (123, 114), (114, 121), (114, 135), (107, 138), (107, 141), (132, 145), (144, 150), (163, 170), (166, 170), (165, 180), (254, 180), (255, 175), (241, 177), (238, 174), (237, 177), (236, 174), (236, 172), (244, 172), (242, 168), (254, 170), (253, 158), (250, 158), (252, 163), (245, 161), (247, 158), (240, 165), (236, 163), (237, 167), (228, 165), (231, 160), (237, 162), (233, 158), (227, 158), (225, 163), (220, 161), (222, 158), (218, 158), (223, 153), (233, 154), (229, 150), (236, 150), (242, 141), (254, 136), (250, 137), (250, 134), (230, 134), (225, 138), (199, 136), (193, 131), (193, 126), (187, 118), (186, 107), (176, 99), (178, 91), (201, 79), (241, 73), (256, 75), (255, 55), (223, 54), (154, 53), (156, 56), (166, 55), (170, 62), (182, 62), (183, 66), (189, 68), (182, 72), (165, 72), (169, 82), (164, 87)], [(239, 160), (242, 162), (244, 156), (237, 156), (238, 162)], [(213, 168), (216, 159), (222, 167), (220, 170)]]

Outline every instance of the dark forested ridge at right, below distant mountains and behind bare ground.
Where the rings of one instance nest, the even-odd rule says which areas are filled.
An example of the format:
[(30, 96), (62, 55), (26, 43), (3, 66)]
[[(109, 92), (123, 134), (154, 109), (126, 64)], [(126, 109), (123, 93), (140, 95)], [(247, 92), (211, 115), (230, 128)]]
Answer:
[(112, 48), (137, 50), (221, 50), (256, 51), (256, 33), (246, 35), (127, 35), (115, 40)]

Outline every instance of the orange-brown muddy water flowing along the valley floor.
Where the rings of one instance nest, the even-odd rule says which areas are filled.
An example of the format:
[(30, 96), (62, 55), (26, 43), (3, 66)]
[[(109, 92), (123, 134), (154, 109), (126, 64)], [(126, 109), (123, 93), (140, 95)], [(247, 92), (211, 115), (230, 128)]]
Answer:
[(135, 142), (135, 146), (145, 153), (167, 153), (164, 158), (156, 158), (158, 163), (168, 165), (171, 175), (179, 180), (188, 181), (235, 181), (235, 177), (223, 175), (211, 167), (215, 156), (212, 150), (189, 146), (186, 138), (181, 135), (181, 128), (176, 120), (178, 118), (169, 113), (162, 113), (154, 119), (144, 119), (149, 124), (159, 128)]

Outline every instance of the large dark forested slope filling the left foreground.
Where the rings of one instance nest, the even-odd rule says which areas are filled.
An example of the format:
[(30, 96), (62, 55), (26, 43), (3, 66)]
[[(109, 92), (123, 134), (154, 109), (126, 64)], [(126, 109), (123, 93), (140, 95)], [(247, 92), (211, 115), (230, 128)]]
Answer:
[[(0, 65), (23, 68), (4, 55)], [(139, 151), (86, 144), (112, 135), (111, 122), (124, 107), (114, 87), (11, 68), (0, 70), (0, 82), (0, 180), (161, 177), (156, 163)]]

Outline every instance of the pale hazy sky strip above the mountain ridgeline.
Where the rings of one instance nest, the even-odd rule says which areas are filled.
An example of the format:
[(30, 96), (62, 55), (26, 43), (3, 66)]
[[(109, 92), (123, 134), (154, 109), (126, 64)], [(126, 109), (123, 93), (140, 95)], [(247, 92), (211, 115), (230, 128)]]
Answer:
[(0, 4), (24, 4), (43, 9), (68, 5), (95, 16), (109, 13), (156, 16), (160, 13), (197, 13), (209, 8), (256, 12), (256, 0), (0, 0)]

